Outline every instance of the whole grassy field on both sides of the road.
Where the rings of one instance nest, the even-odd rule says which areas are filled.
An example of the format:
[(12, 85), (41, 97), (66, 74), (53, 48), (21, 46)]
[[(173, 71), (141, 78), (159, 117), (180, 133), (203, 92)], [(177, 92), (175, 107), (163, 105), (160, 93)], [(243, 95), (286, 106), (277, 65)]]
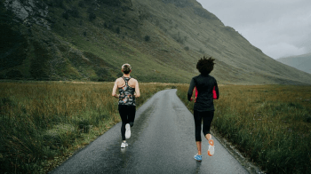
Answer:
[[(46, 173), (120, 122), (113, 83), (0, 83), (0, 167)], [(140, 83), (142, 105), (156, 91), (188, 84)], [(267, 173), (307, 173), (311, 166), (311, 87), (219, 85), (213, 131)]]

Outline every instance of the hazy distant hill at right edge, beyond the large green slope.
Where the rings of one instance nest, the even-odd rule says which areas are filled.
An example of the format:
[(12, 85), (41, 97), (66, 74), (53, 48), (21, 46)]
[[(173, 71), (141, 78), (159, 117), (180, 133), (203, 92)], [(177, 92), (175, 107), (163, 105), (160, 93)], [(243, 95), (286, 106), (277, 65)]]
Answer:
[(276, 60), (285, 65), (295, 67), (301, 71), (311, 74), (311, 53)]

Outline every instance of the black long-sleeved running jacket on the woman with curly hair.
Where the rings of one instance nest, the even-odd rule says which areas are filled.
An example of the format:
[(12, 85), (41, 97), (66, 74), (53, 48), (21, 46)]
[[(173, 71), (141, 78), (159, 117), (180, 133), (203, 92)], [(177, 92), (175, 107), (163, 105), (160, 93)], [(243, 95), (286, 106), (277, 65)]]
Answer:
[(216, 79), (211, 75), (197, 75), (192, 78), (187, 91), (187, 100), (190, 101), (194, 88), (196, 87), (198, 95), (194, 110), (199, 112), (214, 111), (212, 99), (212, 90), (215, 87), (217, 99), (219, 99), (219, 89)]

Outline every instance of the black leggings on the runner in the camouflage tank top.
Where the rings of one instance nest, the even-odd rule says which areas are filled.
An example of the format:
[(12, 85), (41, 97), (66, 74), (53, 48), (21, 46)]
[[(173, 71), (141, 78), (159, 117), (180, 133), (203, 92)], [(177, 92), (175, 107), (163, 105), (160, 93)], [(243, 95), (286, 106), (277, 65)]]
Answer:
[(119, 105), (118, 109), (122, 120), (121, 136), (122, 140), (125, 140), (125, 124), (129, 123), (131, 127), (134, 125), (136, 107)]

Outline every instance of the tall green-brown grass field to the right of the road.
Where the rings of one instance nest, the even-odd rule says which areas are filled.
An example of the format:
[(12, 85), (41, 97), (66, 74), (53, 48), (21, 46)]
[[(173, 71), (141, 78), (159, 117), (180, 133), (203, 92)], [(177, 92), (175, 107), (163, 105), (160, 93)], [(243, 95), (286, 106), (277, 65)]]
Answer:
[[(211, 125), (267, 173), (310, 173), (310, 86), (219, 86)], [(187, 101), (187, 86), (178, 87)]]

